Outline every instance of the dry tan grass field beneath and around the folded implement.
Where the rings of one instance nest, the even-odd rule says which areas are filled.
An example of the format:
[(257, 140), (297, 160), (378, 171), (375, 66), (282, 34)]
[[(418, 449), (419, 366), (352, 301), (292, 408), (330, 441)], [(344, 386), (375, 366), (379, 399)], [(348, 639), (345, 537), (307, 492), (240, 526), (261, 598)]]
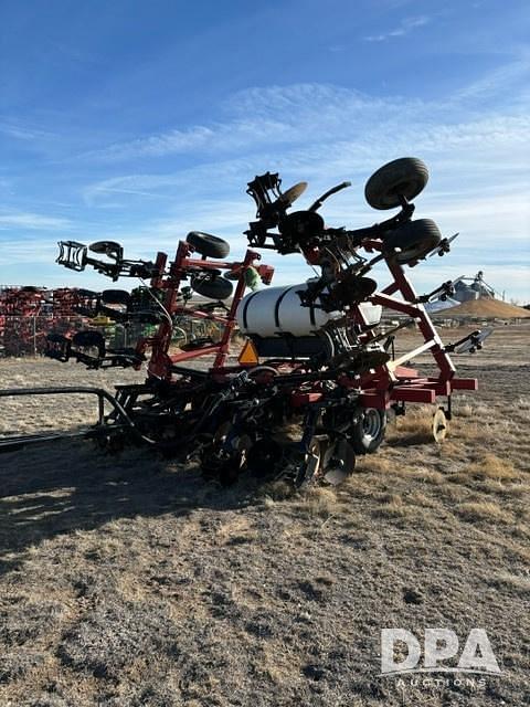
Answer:
[[(0, 455), (0, 706), (530, 704), (529, 346), (502, 326), (458, 357), (480, 391), (445, 443), (411, 405), (337, 489), (223, 489), (86, 441)], [(1, 388), (136, 378), (0, 361)], [(89, 402), (3, 400), (0, 432), (75, 426)], [(380, 677), (382, 627), (485, 629), (501, 674)]]

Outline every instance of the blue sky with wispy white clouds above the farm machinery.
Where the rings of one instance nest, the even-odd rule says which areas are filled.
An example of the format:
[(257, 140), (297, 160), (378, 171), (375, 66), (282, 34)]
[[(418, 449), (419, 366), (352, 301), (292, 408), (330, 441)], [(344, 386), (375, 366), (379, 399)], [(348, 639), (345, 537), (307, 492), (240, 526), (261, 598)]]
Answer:
[(350, 180), (322, 214), (368, 225), (368, 177), (417, 156), (417, 217), (460, 232), (417, 288), (480, 268), (530, 300), (528, 2), (2, 0), (0, 36), (1, 284), (109, 285), (55, 265), (60, 239), (152, 257), (195, 229), (240, 256), (267, 170), (309, 181), (301, 208)]

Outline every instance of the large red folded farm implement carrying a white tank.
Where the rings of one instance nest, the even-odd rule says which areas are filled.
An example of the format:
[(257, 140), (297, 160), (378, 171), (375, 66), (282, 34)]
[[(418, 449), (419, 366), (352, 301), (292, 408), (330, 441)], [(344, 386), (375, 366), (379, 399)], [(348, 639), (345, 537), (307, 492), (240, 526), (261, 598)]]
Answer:
[[(433, 436), (441, 442), (453, 393), (477, 389), (475, 379), (456, 376), (451, 354), (480, 349), (490, 330), (444, 345), (425, 304), (448, 296), (452, 284), (417, 295), (411, 283), (409, 272), (427, 256), (449, 252), (453, 241), (434, 221), (413, 219), (412, 202), (427, 179), (425, 165), (415, 158), (383, 166), (364, 194), (374, 209), (398, 213), (348, 230), (326, 225), (318, 212), (348, 182), (293, 211), (306, 182), (283, 191), (278, 175), (258, 176), (247, 188), (256, 219), (245, 232), (248, 250), (240, 261), (226, 260), (229, 244), (202, 232), (181, 241), (171, 262), (161, 252), (153, 261), (127, 260), (114, 241), (61, 242), (61, 265), (91, 266), (113, 281), (135, 277), (142, 284), (132, 294), (87, 293), (85, 315), (108, 315), (127, 326), (147, 323), (152, 333), (121, 348), (109, 347), (94, 327), (55, 333), (47, 337), (46, 355), (93, 369), (146, 369), (147, 377), (117, 386), (114, 395), (64, 388), (3, 390), (0, 397), (91, 392), (99, 401), (98, 422), (80, 434), (96, 436), (109, 450), (139, 443), (168, 456), (195, 458), (206, 476), (223, 484), (245, 471), (299, 487), (338, 484), (353, 471), (357, 455), (380, 446), (389, 414), (405, 414), (409, 403), (432, 405)], [(315, 277), (268, 286), (274, 270), (261, 263), (259, 254), (266, 250), (301, 254)], [(389, 273), (381, 289), (368, 276), (377, 265)], [(383, 308), (394, 319), (391, 328), (381, 323)], [(176, 329), (182, 323), (189, 328), (190, 321), (214, 325), (219, 335), (192, 336), (176, 350)], [(403, 351), (407, 338), (402, 334), (411, 327), (421, 341)], [(239, 358), (231, 356), (235, 330), (246, 338)], [(412, 367), (425, 355), (432, 374)], [(43, 439), (6, 439), (0, 445)]]

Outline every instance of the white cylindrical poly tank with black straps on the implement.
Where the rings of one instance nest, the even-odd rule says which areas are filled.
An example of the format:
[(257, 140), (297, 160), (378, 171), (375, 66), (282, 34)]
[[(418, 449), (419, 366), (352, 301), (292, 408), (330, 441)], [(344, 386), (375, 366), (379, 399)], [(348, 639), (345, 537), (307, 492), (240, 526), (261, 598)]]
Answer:
[[(311, 336), (331, 319), (338, 319), (342, 312), (325, 312), (318, 307), (303, 307), (298, 292), (307, 289), (307, 283), (287, 287), (267, 287), (246, 295), (237, 307), (237, 325), (243, 334), (272, 337), (282, 334)], [(319, 304), (317, 298), (316, 304)], [(377, 324), (381, 307), (361, 305), (369, 324)]]

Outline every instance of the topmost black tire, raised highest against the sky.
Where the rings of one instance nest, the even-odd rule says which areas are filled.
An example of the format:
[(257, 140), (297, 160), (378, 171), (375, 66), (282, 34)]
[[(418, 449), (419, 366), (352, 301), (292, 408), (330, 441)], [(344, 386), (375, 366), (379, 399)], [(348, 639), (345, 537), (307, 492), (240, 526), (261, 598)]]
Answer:
[(428, 181), (428, 170), (416, 157), (401, 157), (383, 165), (367, 181), (364, 198), (373, 209), (395, 209), (400, 196), (412, 201)]

